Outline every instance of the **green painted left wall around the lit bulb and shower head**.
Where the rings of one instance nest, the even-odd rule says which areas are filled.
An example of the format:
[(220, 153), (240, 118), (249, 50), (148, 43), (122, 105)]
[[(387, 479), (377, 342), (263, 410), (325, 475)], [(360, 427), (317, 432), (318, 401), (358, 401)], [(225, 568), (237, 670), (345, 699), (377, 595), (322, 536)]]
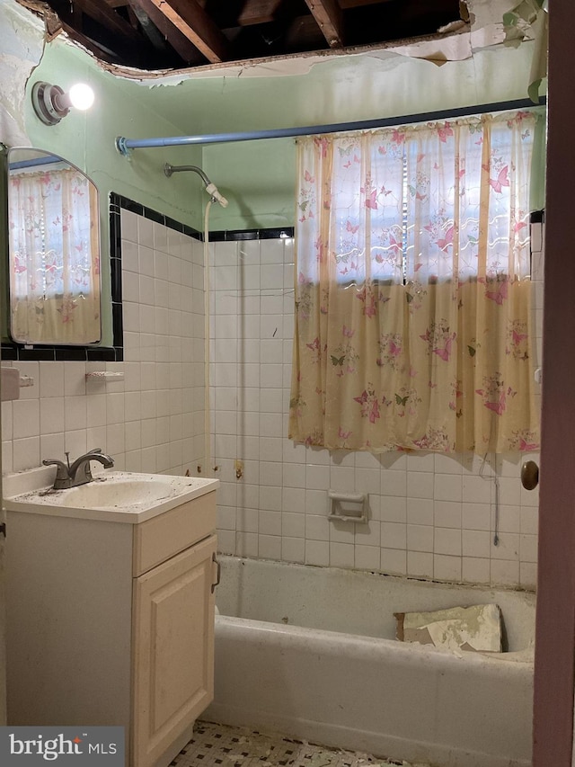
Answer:
[(185, 155), (179, 148), (140, 149), (125, 158), (115, 147), (120, 135), (166, 136), (180, 132), (162, 113), (156, 111), (154, 91), (111, 75), (98, 67), (82, 50), (60, 38), (46, 46), (39, 67), (28, 83), (46, 80), (66, 88), (77, 82), (92, 85), (93, 108), (71, 110), (56, 126), (45, 126), (26, 99), (26, 129), (34, 147), (66, 156), (84, 168), (98, 185), (102, 196), (118, 192), (180, 219), (190, 226), (201, 220), (201, 185), (190, 183), (182, 194), (181, 185), (164, 175), (164, 163), (201, 163), (201, 148), (191, 147)]

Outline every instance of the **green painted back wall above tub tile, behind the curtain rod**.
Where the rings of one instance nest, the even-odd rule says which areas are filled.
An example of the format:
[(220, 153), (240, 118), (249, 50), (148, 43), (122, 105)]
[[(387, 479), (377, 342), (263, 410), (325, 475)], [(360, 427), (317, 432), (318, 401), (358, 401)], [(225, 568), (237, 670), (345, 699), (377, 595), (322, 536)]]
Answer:
[[(525, 99), (530, 61), (529, 45), (483, 50), (443, 67), (396, 54), (365, 55), (325, 59), (305, 75), (240, 77), (219, 89), (211, 80), (184, 85), (194, 89), (198, 105), (211, 88), (202, 132), (270, 129)], [(234, 115), (233, 126), (226, 113)], [(211, 227), (293, 226), (295, 156), (293, 139), (206, 146), (203, 166), (230, 201), (226, 210), (214, 207)]]

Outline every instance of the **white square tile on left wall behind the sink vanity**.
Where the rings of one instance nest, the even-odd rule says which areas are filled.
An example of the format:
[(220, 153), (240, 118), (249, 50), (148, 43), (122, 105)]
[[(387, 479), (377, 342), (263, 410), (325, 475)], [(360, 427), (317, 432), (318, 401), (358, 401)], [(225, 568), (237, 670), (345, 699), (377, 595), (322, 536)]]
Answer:
[[(34, 386), (2, 403), (3, 471), (101, 447), (115, 468), (197, 473), (204, 451), (203, 245), (122, 210), (124, 362), (13, 362)], [(121, 370), (124, 381), (86, 381)]]

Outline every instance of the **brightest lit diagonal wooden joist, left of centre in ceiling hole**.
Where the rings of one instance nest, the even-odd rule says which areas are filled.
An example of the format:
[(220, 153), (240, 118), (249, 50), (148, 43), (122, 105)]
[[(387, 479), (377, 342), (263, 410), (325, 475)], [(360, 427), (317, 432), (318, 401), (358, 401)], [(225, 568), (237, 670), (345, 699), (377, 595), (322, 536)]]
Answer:
[(229, 58), (226, 37), (196, 0), (151, 0), (211, 64)]

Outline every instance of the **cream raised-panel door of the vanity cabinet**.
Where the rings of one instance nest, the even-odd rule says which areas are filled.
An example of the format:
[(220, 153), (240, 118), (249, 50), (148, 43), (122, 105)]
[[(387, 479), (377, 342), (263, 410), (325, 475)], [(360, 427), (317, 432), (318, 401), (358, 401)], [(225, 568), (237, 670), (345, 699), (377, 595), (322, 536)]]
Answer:
[(214, 696), (216, 536), (134, 580), (134, 767), (148, 767)]

